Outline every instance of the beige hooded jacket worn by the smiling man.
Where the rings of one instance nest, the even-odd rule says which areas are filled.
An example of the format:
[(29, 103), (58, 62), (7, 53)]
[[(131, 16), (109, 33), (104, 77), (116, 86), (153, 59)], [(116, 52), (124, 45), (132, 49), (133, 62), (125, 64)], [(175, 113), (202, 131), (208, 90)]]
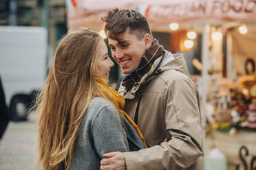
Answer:
[(182, 54), (166, 51), (161, 58), (131, 90), (118, 90), (149, 146), (125, 152), (127, 170), (204, 169), (198, 89)]

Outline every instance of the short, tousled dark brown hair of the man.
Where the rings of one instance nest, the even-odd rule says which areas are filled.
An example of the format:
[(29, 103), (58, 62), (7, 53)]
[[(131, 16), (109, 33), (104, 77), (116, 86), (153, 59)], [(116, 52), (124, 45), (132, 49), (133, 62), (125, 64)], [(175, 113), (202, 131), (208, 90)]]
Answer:
[(118, 36), (129, 27), (129, 33), (135, 34), (141, 40), (145, 34), (151, 35), (147, 19), (135, 10), (110, 10), (107, 16), (101, 18), (106, 22), (105, 34), (107, 37), (118, 40)]

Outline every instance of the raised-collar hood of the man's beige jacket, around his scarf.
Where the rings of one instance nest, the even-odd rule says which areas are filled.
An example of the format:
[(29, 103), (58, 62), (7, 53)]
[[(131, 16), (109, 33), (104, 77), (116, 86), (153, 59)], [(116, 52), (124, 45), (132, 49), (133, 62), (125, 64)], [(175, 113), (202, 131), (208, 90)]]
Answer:
[(153, 79), (153, 77), (156, 77), (159, 73), (162, 73), (164, 71), (175, 69), (177, 71), (180, 71), (184, 73), (185, 75), (189, 76), (189, 70), (186, 66), (186, 61), (184, 60), (184, 56), (182, 53), (175, 53), (172, 54), (171, 52), (164, 50), (165, 53), (160, 58), (156, 59), (155, 62), (153, 62), (151, 69), (148, 73), (146, 73), (140, 82), (137, 84), (134, 84), (133, 88), (127, 91), (125, 86), (120, 85), (120, 88), (118, 89), (118, 92), (125, 97), (125, 99), (134, 99), (136, 96), (136, 91), (140, 88), (141, 84), (147, 83), (150, 80)]

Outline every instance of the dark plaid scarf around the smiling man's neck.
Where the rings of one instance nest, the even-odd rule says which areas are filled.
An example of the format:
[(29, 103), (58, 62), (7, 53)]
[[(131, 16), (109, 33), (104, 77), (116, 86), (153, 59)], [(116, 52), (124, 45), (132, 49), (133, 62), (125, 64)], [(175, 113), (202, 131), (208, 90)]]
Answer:
[(125, 76), (124, 80), (122, 80), (122, 86), (125, 86), (127, 90), (129, 90), (134, 84), (140, 82), (141, 78), (149, 72), (153, 62), (164, 53), (164, 47), (159, 45), (158, 40), (154, 39), (151, 47), (145, 52), (142, 56), (142, 60), (138, 69), (133, 73)]

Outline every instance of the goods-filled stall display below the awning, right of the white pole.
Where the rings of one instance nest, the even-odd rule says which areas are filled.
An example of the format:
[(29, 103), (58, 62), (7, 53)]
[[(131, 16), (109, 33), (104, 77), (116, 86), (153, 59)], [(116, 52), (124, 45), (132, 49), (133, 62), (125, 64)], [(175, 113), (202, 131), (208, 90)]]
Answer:
[[(206, 148), (217, 146), (233, 169), (255, 168), (256, 29), (252, 23), (246, 25), (248, 32), (244, 34), (239, 32), (244, 25), (225, 29), (224, 45), (211, 38), (208, 64), (204, 64)], [(220, 46), (224, 50), (216, 50)], [(222, 60), (213, 61), (211, 56)]]

